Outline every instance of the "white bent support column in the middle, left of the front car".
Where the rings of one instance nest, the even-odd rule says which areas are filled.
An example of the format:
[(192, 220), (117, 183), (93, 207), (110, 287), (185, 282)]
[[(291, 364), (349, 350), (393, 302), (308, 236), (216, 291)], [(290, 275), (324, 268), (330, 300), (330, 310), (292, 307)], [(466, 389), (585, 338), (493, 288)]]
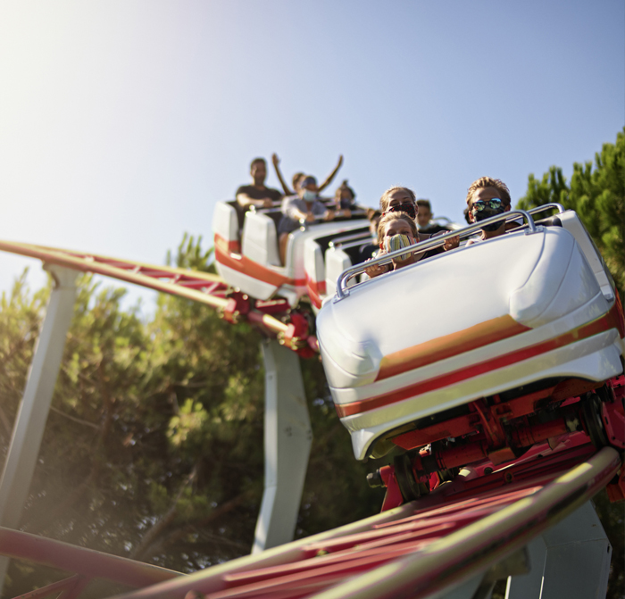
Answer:
[(312, 429), (299, 357), (277, 341), (262, 342), (265, 366), (265, 490), (252, 553), (293, 540)]

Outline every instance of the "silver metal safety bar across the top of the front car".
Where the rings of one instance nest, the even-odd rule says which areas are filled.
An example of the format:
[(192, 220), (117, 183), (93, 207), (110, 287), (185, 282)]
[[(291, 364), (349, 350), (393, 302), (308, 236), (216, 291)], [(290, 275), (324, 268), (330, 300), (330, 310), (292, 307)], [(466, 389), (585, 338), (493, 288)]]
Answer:
[[(402, 254), (407, 254), (409, 250), (417, 250), (417, 253), (421, 254), (421, 252), (427, 252), (428, 250), (434, 249), (436, 247), (440, 247), (444, 245), (447, 239), (451, 239), (452, 237), (471, 237), (473, 233), (476, 233), (480, 229), (482, 229), (485, 225), (489, 225), (495, 222), (500, 222), (504, 220), (507, 222), (508, 220), (514, 220), (518, 217), (522, 217), (527, 220), (527, 227), (529, 233), (536, 233), (536, 225), (534, 224), (534, 220), (532, 219), (529, 212), (525, 210), (511, 210), (510, 212), (503, 212), (502, 214), (497, 214), (496, 216), (492, 216), (489, 219), (480, 220), (468, 227), (464, 227), (463, 229), (459, 229), (457, 231), (450, 231), (445, 235), (437, 235), (436, 237), (432, 237), (427, 239), (426, 241), (420, 241), (417, 244), (409, 245), (408, 247), (402, 247), (395, 252), (391, 252), (390, 254), (384, 254), (379, 258), (374, 258), (373, 260), (368, 260), (367, 262), (362, 262), (360, 264), (356, 264), (351, 268), (343, 270), (341, 274), (338, 276), (337, 280), (337, 297), (334, 298), (334, 301), (337, 302), (342, 300), (344, 297), (349, 295), (349, 291), (347, 291), (347, 282), (352, 277), (364, 272), (370, 266), (375, 264), (387, 264), (392, 262), (392, 259), (395, 256), (400, 256)], [(345, 286), (345, 287), (344, 287)]]

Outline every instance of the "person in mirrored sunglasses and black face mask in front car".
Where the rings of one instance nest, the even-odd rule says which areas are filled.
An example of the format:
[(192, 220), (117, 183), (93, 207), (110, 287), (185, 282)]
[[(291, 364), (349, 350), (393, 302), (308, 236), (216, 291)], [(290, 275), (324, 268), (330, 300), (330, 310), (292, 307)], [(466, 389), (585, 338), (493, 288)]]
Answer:
[[(481, 177), (471, 183), (467, 193), (467, 207), (471, 222), (489, 219), (491, 216), (503, 214), (510, 210), (510, 191), (500, 179)], [(505, 221), (485, 225), (482, 234), (476, 241), (485, 241), (493, 237), (499, 237), (505, 233)], [(469, 240), (467, 245), (476, 243)]]

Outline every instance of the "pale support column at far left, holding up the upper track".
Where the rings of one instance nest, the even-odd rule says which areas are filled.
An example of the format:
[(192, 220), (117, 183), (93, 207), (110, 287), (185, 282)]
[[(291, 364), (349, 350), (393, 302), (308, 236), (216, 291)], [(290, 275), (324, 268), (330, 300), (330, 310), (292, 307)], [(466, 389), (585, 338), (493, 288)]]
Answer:
[[(76, 298), (76, 270), (47, 265), (44, 268), (53, 276), (54, 288), (0, 478), (0, 526), (6, 528), (17, 528), (20, 523), (21, 508), (37, 463)], [(0, 591), (8, 562), (7, 558), (0, 558)]]

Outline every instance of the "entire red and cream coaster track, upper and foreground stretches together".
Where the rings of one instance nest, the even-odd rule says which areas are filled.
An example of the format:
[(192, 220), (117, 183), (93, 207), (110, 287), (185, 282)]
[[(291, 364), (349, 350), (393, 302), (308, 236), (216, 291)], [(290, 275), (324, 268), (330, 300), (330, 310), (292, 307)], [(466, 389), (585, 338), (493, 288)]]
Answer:
[[(298, 325), (272, 315), (286, 314), (284, 304), (249, 301), (238, 310), (248, 298), (210, 273), (4, 241), (0, 250), (207, 304), (229, 320), (248, 320), (282, 339), (290, 335), (293, 349), (302, 338), (308, 349), (313, 345), (310, 338), (297, 339)], [(470, 595), (462, 596), (486, 597), (489, 590), (479, 595), (479, 589), (527, 571), (524, 548), (532, 539), (608, 483), (618, 480), (625, 489), (621, 453), (609, 446), (597, 451), (581, 432), (569, 441), (535, 447), (540, 459), (521, 457), (479, 478), (461, 475), (418, 501), (190, 575), (11, 528), (0, 528), (0, 554), (74, 572), (23, 599), (59, 592), (73, 599), (94, 578), (138, 589), (116, 599), (182, 599), (189, 592), (209, 599), (443, 597), (476, 579)]]

